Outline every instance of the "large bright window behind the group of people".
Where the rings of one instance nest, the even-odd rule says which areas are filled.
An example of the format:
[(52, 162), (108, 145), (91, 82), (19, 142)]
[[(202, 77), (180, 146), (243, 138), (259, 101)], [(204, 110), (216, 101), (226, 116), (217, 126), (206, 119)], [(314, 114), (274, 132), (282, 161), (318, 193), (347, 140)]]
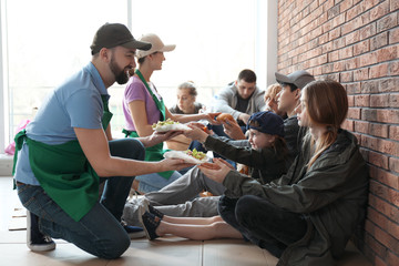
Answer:
[[(7, 14), (1, 29), (8, 48), (8, 60), (0, 64), (8, 78), (8, 93), (2, 95), (8, 95), (6, 135), (10, 137), (4, 144), (20, 121), (32, 117), (33, 108), (40, 108), (49, 91), (90, 61), (92, 38), (105, 22), (127, 24), (136, 39), (154, 32), (165, 44), (176, 44), (175, 51), (165, 53), (163, 70), (152, 76), (166, 106), (175, 103), (176, 88), (184, 81), (194, 81), (200, 89), (197, 101), (208, 105), (242, 69), (258, 68), (262, 0), (0, 1)], [(257, 74), (258, 79), (264, 75)], [(124, 122), (123, 90), (123, 85), (110, 88), (115, 132)]]

